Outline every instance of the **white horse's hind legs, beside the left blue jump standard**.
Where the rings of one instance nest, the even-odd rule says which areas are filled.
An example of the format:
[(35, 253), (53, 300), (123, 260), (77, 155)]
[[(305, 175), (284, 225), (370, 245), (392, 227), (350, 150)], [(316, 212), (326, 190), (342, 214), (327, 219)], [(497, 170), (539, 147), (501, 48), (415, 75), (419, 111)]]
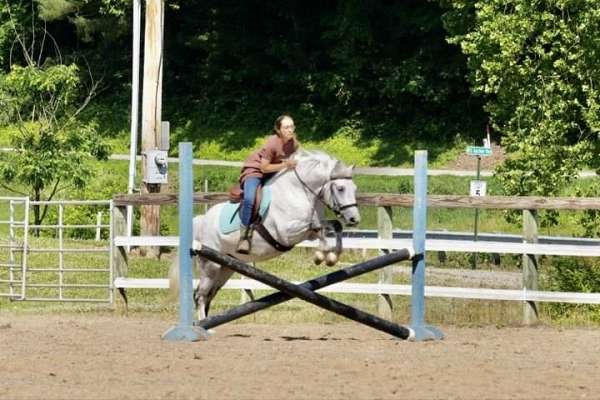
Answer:
[(198, 258), (198, 269), (200, 282), (194, 290), (194, 301), (198, 311), (198, 320), (203, 320), (208, 316), (210, 302), (231, 277), (233, 271), (201, 257)]

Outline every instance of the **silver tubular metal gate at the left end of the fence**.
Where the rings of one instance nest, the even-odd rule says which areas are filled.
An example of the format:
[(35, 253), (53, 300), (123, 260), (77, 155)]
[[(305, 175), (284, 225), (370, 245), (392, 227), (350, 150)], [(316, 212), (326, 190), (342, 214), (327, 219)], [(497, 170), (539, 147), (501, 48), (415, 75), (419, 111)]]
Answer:
[[(0, 198), (0, 202), (9, 204), (7, 220), (0, 221), (7, 226), (0, 231), (1, 296), (112, 302), (111, 201)], [(17, 204), (23, 210), (17, 210)], [(31, 223), (36, 213), (44, 215), (42, 224)]]

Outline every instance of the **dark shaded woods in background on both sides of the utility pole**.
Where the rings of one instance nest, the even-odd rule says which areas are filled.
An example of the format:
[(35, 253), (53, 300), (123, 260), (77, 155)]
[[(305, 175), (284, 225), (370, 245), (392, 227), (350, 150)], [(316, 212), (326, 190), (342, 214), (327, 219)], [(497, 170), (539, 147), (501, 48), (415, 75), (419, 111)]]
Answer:
[[(132, 1), (20, 4), (42, 17), (66, 58), (103, 78), (110, 113), (95, 118), (100, 130), (114, 130), (106, 121), (119, 109), (119, 123), (126, 125)], [(185, 127), (186, 139), (236, 150), (254, 142), (247, 131), (264, 133), (288, 111), (307, 139), (351, 128), (359, 140), (385, 144), (374, 163), (394, 163), (408, 158), (406, 143), (451, 144), (483, 128), (481, 103), (465, 82), (465, 58), (446, 43), (436, 2), (165, 4), (163, 116)], [(205, 126), (246, 132), (207, 137)], [(193, 137), (199, 131), (203, 136)]]

